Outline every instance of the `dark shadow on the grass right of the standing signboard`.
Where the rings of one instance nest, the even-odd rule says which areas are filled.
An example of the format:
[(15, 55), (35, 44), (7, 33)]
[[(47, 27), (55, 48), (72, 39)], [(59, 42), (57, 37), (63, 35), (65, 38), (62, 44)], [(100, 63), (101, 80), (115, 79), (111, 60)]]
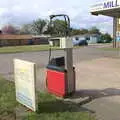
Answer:
[(92, 110), (81, 107), (72, 102), (63, 100), (42, 102), (38, 104), (38, 113), (63, 113), (63, 112), (88, 112), (95, 113)]

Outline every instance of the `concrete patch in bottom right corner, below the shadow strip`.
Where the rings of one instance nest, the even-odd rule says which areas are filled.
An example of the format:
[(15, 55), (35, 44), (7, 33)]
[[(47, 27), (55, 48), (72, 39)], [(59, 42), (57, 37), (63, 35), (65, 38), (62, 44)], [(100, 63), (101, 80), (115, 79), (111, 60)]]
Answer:
[(120, 96), (93, 100), (84, 107), (95, 112), (97, 120), (120, 120)]

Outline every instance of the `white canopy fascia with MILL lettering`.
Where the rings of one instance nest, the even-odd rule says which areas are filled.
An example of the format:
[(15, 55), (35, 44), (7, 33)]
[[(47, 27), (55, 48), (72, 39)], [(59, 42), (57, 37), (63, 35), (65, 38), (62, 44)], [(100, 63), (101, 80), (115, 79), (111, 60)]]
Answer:
[(91, 6), (91, 12), (109, 10), (119, 7), (120, 7), (120, 0), (104, 0), (103, 2)]

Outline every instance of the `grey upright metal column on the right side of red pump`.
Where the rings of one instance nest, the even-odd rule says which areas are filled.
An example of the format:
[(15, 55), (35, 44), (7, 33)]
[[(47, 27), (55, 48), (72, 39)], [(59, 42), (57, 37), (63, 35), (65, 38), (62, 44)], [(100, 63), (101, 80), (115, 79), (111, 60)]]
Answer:
[(67, 70), (68, 93), (74, 91), (73, 53), (72, 48), (65, 49), (65, 68)]

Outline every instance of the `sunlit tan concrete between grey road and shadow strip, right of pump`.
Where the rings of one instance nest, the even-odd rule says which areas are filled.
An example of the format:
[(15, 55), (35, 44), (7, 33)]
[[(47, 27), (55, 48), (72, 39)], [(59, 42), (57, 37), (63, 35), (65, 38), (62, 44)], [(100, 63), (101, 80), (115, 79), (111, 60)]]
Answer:
[(77, 89), (120, 88), (120, 60), (99, 58), (76, 65)]

